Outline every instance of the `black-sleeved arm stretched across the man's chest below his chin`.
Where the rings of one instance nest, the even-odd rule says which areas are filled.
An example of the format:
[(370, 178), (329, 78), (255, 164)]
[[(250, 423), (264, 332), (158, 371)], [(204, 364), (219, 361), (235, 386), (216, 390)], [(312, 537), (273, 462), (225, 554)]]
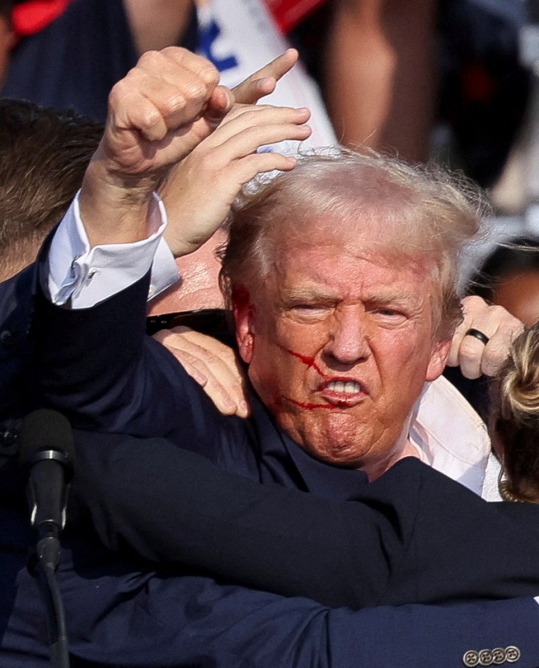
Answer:
[(415, 458), (374, 483), (358, 476), (354, 500), (336, 502), (221, 471), (166, 440), (81, 433), (76, 443), (72, 502), (113, 550), (129, 546), (152, 561), (331, 607), (539, 591), (533, 531), (520, 534), (513, 515)]

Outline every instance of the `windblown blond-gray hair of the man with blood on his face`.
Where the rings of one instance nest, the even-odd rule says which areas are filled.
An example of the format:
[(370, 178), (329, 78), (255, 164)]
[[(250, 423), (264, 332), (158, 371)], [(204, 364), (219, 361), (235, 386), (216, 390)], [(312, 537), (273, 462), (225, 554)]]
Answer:
[(438, 339), (446, 339), (462, 318), (456, 288), (460, 254), (478, 235), (486, 212), (478, 187), (434, 164), (412, 166), (343, 147), (302, 155), (292, 171), (251, 182), (233, 205), (230, 239), (221, 253), (221, 290), (229, 306), (235, 288), (256, 290), (283, 244), (318, 241), (316, 223), (323, 218), (336, 222), (336, 235), (352, 225), (383, 224), (385, 252), (430, 261), (439, 286), (433, 321)]

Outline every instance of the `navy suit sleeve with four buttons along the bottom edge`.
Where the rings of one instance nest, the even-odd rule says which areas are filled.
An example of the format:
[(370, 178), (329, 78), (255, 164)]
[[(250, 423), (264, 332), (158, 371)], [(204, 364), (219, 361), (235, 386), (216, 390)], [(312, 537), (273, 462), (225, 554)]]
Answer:
[[(464, 653), (509, 646), (520, 658), (507, 665), (539, 666), (531, 598), (352, 612), (208, 578), (121, 571), (65, 573), (61, 564), (72, 668), (462, 668)], [(24, 570), (17, 585), (2, 668), (45, 668), (36, 583)]]

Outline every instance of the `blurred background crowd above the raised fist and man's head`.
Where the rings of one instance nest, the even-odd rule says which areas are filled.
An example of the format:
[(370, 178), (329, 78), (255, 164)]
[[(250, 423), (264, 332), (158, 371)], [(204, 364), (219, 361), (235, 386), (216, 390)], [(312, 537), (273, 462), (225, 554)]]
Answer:
[(521, 44), (533, 10), (521, 0), (3, 0), (2, 95), (104, 121), (111, 87), (148, 49), (198, 49), (235, 85), (293, 45), (303, 67), (268, 102), (309, 107), (313, 145), (338, 139), (460, 169), (490, 190), (490, 243), (533, 238), (534, 79)]

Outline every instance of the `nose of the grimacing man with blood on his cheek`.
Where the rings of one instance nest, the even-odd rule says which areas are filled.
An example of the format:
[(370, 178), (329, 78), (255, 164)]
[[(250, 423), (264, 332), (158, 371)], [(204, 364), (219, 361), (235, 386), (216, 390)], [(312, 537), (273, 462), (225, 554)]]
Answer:
[(325, 352), (338, 364), (357, 364), (370, 355), (366, 334), (363, 309), (359, 306), (345, 307), (335, 313)]

